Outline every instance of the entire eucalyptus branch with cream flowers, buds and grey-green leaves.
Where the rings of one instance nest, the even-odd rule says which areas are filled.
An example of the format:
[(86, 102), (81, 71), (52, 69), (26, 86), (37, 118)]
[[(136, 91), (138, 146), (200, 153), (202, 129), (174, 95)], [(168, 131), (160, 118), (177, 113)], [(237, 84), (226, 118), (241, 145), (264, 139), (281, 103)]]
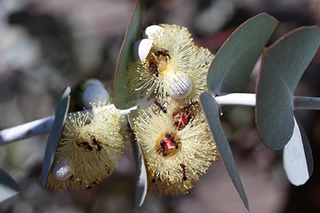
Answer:
[[(313, 162), (294, 110), (319, 110), (320, 99), (296, 97), (294, 91), (319, 48), (319, 27), (294, 29), (267, 46), (279, 21), (260, 13), (242, 23), (213, 55), (196, 46), (186, 28), (159, 24), (143, 31), (142, 13), (142, 1), (137, 0), (117, 60), (112, 104), (102, 103), (109, 102), (109, 94), (95, 80), (71, 90), (66, 87), (53, 116), (0, 131), (0, 144), (49, 133), (41, 184), (85, 190), (114, 170), (123, 146), (120, 116), (126, 116), (132, 128), (127, 131), (137, 140), (132, 141), (137, 206), (147, 192), (188, 192), (211, 161), (220, 158), (249, 211), (220, 115), (223, 106), (255, 107), (261, 141), (274, 151), (283, 149), (289, 181), (303, 185), (312, 174)], [(255, 93), (240, 93), (259, 58)], [(85, 111), (75, 111), (79, 102)], [(89, 102), (97, 104), (90, 109)], [(89, 158), (101, 164), (83, 160), (85, 168), (97, 168), (79, 172), (79, 160)], [(19, 187), (3, 170), (0, 173), (0, 201), (4, 201), (18, 194)]]

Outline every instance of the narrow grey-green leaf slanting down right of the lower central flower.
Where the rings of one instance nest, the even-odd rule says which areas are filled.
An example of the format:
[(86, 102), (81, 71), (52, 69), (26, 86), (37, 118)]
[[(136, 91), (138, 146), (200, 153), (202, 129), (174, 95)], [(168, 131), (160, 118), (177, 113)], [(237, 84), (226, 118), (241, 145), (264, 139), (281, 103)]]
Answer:
[(208, 121), (210, 131), (215, 140), (215, 145), (220, 153), (220, 158), (223, 161), (225, 168), (227, 169), (235, 188), (245, 204), (245, 207), (249, 211), (249, 203), (247, 202), (247, 195), (245, 195), (245, 190), (243, 189), (242, 182), (239, 177), (237, 167), (235, 165), (235, 159), (233, 158), (233, 153), (223, 132), (223, 128), (220, 124), (219, 117), (219, 106), (215, 101), (213, 96), (208, 92), (203, 92), (200, 96), (201, 107), (203, 113)]

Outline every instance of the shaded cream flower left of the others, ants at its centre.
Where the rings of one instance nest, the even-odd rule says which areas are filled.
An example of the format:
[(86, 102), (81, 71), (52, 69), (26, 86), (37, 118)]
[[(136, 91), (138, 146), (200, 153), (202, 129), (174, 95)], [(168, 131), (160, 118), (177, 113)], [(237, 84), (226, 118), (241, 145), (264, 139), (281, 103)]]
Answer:
[(60, 191), (84, 190), (102, 182), (115, 169), (123, 152), (124, 142), (119, 131), (120, 115), (113, 105), (94, 105), (92, 114), (71, 114), (53, 162), (58, 166), (69, 163), (61, 165), (63, 170), (59, 173), (69, 175), (64, 180), (65, 177), (57, 177), (59, 174), (51, 169), (46, 185)]

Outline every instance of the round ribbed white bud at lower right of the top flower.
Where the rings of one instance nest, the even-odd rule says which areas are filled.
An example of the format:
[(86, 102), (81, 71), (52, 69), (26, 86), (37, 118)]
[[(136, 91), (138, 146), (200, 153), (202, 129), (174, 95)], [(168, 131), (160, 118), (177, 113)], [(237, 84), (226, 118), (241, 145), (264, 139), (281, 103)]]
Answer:
[(168, 93), (174, 99), (183, 99), (188, 97), (192, 90), (192, 81), (184, 73), (171, 77)]

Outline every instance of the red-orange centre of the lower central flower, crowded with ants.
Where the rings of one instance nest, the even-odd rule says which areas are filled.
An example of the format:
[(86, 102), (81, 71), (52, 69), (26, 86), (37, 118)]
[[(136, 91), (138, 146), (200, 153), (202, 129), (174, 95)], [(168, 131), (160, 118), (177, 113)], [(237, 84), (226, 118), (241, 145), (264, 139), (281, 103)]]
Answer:
[(166, 132), (162, 133), (156, 140), (156, 152), (163, 157), (174, 156), (181, 148), (181, 141), (176, 133)]

